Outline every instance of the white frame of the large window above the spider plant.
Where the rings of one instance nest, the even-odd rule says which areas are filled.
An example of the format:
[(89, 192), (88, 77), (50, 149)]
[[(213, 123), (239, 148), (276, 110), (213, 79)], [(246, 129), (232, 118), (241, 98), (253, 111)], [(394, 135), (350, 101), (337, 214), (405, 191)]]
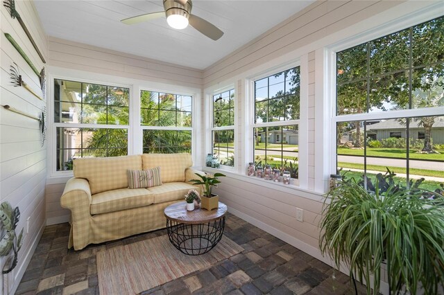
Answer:
[[(377, 111), (362, 114), (336, 114), (336, 52), (344, 51), (348, 48), (371, 42), (374, 39), (396, 33), (400, 30), (422, 24), (425, 21), (441, 17), (442, 14), (434, 8), (437, 6), (430, 6), (420, 12), (404, 15), (398, 19), (393, 19), (386, 24), (379, 25), (375, 28), (343, 39), (323, 49), (322, 55), (325, 65), (323, 73), (323, 87), (325, 89), (325, 112), (323, 113), (324, 123), (323, 127), (330, 133), (326, 138), (325, 150), (327, 150), (325, 162), (325, 169), (323, 170), (323, 179), (318, 181), (318, 184), (323, 182), (323, 193), (328, 191), (328, 179), (330, 174), (336, 174), (336, 123), (351, 122), (351, 121), (372, 121), (372, 120), (388, 120), (391, 118), (414, 118), (425, 116), (444, 116), (443, 107), (426, 107), (422, 109), (400, 109), (393, 111)], [(316, 67), (316, 71), (321, 66)], [(407, 173), (408, 174), (408, 173)]]

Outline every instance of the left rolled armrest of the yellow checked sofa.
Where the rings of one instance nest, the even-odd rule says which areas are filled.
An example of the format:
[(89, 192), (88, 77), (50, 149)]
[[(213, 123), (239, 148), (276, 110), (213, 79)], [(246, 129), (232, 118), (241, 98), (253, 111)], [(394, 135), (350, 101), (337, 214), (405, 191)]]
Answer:
[(73, 177), (67, 181), (60, 205), (71, 210), (71, 221), (84, 220), (91, 216), (91, 190), (86, 179)]

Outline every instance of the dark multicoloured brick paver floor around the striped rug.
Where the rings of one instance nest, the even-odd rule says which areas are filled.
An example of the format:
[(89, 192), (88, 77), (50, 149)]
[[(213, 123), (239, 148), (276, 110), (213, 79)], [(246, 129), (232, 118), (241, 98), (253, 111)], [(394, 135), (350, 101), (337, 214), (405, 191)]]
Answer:
[[(46, 226), (16, 294), (99, 294), (96, 253), (160, 235), (165, 230), (67, 249), (69, 224)], [(228, 214), (225, 233), (245, 250), (142, 294), (355, 294), (348, 276)], [(366, 294), (358, 286), (359, 294)]]

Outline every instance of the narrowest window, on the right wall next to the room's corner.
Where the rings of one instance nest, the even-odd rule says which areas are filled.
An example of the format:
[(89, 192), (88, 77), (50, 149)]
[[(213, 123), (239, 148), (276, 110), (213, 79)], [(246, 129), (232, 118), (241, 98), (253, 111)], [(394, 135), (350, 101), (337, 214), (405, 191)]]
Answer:
[(234, 89), (213, 95), (213, 154), (221, 165), (234, 166)]

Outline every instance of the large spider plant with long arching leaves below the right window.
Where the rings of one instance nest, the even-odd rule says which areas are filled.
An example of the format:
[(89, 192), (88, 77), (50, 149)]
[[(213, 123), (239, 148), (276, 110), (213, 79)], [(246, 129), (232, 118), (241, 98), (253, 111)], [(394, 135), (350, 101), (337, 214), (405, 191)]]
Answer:
[(338, 268), (344, 263), (353, 281), (355, 275), (365, 281), (368, 294), (379, 293), (383, 264), (391, 294), (438, 294), (444, 285), (444, 206), (437, 193), (343, 182), (327, 194), (320, 225), (322, 253)]

